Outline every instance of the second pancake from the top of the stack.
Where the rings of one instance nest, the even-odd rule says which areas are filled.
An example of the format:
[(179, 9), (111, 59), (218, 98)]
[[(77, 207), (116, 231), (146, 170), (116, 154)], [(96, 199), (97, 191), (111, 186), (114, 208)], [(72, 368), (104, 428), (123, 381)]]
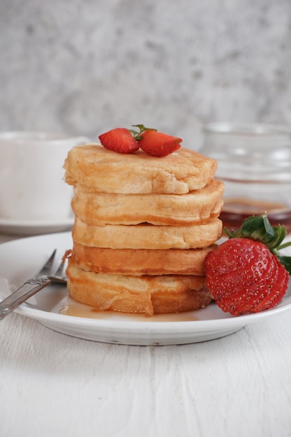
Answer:
[(98, 193), (75, 186), (72, 209), (89, 225), (197, 225), (219, 216), (223, 189), (218, 179), (187, 194)]

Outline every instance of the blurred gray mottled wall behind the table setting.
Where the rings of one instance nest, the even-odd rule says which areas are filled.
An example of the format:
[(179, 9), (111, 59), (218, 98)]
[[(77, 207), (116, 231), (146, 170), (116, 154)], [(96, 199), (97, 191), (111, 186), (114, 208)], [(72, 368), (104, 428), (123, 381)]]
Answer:
[(0, 130), (291, 124), (290, 0), (0, 0)]

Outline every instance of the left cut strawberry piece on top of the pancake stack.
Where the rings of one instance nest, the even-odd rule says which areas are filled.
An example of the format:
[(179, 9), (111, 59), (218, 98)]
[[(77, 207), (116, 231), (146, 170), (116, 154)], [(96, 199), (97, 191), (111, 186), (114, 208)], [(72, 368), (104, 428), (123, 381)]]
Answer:
[(139, 149), (138, 142), (126, 128), (115, 128), (99, 135), (100, 143), (105, 149), (130, 154)]

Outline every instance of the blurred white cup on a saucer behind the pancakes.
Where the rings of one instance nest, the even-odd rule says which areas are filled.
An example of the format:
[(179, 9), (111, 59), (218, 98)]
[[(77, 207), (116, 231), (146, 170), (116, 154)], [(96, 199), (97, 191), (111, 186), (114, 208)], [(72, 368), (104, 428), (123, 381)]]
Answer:
[(0, 133), (0, 218), (64, 221), (72, 216), (73, 191), (64, 161), (89, 138), (40, 132)]

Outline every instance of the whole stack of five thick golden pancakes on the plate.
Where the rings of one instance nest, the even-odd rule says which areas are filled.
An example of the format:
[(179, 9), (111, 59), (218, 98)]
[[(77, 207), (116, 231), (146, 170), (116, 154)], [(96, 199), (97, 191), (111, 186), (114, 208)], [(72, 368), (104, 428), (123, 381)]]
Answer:
[(70, 297), (146, 316), (209, 304), (204, 260), (222, 232), (216, 167), (184, 148), (163, 158), (96, 144), (71, 149), (64, 165), (75, 193)]

